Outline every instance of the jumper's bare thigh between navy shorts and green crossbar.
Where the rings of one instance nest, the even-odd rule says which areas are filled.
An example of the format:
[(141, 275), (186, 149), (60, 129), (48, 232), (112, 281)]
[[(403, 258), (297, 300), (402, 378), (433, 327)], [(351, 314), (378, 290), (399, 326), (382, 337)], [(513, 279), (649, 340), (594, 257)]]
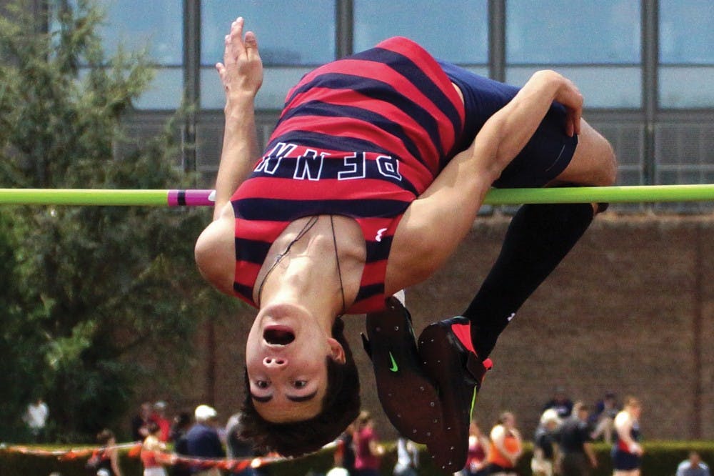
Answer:
[(578, 146), (567, 167), (553, 184), (608, 186), (615, 183), (617, 162), (613, 147), (590, 124), (581, 121)]

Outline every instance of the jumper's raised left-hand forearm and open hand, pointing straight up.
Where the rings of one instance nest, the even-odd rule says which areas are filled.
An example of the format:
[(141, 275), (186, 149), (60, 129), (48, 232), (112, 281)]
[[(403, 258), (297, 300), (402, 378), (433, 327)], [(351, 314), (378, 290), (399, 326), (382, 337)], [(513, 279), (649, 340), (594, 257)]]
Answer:
[(216, 64), (216, 70), (226, 91), (223, 109), (226, 125), (213, 219), (220, 216), (221, 209), (251, 172), (259, 154), (254, 99), (263, 84), (263, 64), (255, 34), (248, 31), (243, 38), (242, 18), (233, 21), (231, 33), (226, 35), (223, 63)]

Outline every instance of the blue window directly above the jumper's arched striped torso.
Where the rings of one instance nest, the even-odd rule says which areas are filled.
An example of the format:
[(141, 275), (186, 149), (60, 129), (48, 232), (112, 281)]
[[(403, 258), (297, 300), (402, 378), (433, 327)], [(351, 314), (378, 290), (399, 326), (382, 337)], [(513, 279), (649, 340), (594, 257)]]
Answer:
[(488, 71), (486, 1), (355, 0), (355, 51), (391, 36), (411, 38), (438, 59)]

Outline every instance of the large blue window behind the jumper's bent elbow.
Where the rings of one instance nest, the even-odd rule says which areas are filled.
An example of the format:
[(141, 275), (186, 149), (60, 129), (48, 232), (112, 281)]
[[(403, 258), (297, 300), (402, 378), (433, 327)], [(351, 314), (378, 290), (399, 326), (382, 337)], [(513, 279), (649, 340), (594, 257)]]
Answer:
[(642, 103), (638, 0), (508, 0), (506, 81), (524, 84), (554, 68), (573, 79), (586, 106)]

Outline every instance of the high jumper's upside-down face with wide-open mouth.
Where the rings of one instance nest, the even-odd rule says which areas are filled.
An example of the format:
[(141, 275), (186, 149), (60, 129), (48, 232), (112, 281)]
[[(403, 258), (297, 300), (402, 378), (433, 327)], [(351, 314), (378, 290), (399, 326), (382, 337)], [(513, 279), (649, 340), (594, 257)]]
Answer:
[(327, 356), (345, 358), (342, 346), (306, 309), (285, 304), (261, 309), (246, 342), (249, 390), (258, 414), (274, 423), (318, 415)]

